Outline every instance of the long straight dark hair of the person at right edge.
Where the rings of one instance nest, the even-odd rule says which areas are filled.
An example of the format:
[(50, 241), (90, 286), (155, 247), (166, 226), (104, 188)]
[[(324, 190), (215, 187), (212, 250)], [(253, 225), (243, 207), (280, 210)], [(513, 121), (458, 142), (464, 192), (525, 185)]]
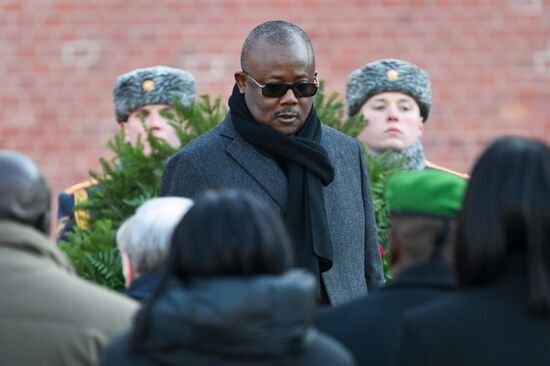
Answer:
[(527, 260), (529, 308), (550, 310), (550, 148), (506, 137), (474, 166), (459, 217), (456, 271), (469, 287), (496, 277), (512, 252)]

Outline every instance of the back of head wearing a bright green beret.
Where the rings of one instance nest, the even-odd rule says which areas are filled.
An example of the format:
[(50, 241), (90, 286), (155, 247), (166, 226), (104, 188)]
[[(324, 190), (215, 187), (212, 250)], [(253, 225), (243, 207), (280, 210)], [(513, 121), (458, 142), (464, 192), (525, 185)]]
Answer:
[(388, 179), (392, 260), (398, 252), (399, 269), (441, 256), (449, 259), (465, 189), (464, 179), (440, 170), (402, 171)]

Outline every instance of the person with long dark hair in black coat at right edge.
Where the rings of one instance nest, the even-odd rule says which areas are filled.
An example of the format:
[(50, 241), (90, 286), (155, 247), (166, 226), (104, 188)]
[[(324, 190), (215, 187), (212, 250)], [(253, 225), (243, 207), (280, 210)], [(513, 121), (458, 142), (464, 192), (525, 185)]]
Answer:
[(458, 222), (462, 291), (407, 314), (396, 365), (550, 363), (550, 148), (502, 138), (475, 164)]

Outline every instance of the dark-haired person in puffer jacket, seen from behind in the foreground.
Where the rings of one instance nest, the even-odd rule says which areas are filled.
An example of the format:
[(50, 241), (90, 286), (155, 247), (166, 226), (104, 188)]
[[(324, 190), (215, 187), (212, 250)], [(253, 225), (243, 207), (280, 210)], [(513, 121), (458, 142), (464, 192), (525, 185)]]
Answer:
[(354, 365), (312, 326), (316, 279), (292, 264), (267, 203), (237, 191), (201, 195), (176, 226), (133, 330), (101, 365)]

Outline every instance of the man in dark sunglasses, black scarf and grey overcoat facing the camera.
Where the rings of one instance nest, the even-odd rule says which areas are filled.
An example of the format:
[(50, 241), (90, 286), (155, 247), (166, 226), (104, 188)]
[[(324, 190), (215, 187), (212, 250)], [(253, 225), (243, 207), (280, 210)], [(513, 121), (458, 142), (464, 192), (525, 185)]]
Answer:
[(284, 21), (257, 26), (235, 81), (230, 112), (169, 160), (161, 195), (237, 188), (270, 203), (286, 221), (296, 265), (318, 276), (321, 303), (383, 286), (364, 154), (316, 115), (308, 35)]

